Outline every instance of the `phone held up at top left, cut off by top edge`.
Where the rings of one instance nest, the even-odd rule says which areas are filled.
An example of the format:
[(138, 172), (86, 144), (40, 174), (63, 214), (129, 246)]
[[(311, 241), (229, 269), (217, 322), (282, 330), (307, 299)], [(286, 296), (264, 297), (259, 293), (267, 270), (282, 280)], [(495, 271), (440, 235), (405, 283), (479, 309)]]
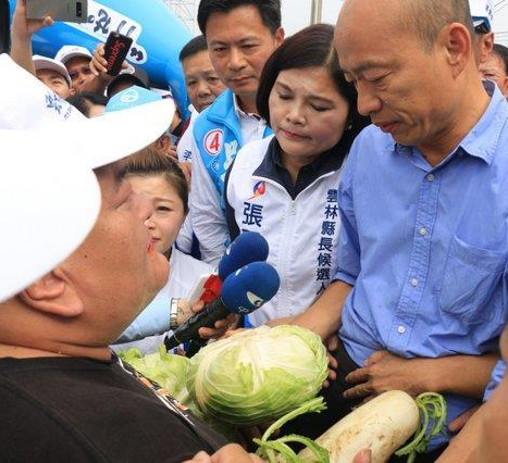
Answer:
[(44, 20), (46, 16), (67, 23), (86, 23), (88, 0), (26, 0), (28, 20)]

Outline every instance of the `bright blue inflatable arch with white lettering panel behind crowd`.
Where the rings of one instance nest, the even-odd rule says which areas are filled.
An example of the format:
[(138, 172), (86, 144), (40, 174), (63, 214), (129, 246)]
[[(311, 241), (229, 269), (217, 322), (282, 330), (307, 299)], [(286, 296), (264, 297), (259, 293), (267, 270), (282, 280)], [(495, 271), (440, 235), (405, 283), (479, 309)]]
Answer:
[[(11, 13), (16, 1), (10, 0)], [(187, 93), (178, 54), (193, 37), (162, 0), (88, 0), (88, 22), (55, 23), (33, 38), (34, 53), (53, 58), (64, 45), (86, 47), (90, 52), (110, 32), (134, 39), (127, 61), (143, 67), (153, 87), (170, 88), (187, 115)]]

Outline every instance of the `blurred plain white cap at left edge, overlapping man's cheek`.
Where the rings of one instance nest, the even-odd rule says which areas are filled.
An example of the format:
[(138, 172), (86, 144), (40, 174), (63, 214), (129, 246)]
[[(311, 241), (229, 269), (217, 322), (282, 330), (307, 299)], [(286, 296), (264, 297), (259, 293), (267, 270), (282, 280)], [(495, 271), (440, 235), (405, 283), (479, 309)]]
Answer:
[(91, 170), (44, 133), (0, 129), (0, 302), (65, 260), (94, 227)]

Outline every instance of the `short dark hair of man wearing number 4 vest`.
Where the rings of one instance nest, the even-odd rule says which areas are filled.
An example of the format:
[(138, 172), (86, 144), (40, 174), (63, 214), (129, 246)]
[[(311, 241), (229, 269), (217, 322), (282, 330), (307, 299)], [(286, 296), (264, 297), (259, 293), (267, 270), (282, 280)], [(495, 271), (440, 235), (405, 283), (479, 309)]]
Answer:
[(198, 9), (199, 29), (206, 36), (211, 14), (228, 13), (239, 7), (255, 7), (272, 34), (281, 27), (281, 0), (201, 0)]

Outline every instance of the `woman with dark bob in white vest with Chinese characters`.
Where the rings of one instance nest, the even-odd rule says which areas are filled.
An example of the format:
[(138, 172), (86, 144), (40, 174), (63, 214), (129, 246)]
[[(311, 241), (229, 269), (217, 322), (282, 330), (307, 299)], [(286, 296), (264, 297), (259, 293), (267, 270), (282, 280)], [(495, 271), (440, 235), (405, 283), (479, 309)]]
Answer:
[(332, 40), (333, 27), (318, 24), (272, 54), (257, 103), (274, 136), (246, 145), (226, 178), (231, 239), (261, 233), (281, 276), (278, 293), (249, 315), (253, 326), (305, 311), (335, 274), (340, 167), (367, 120)]

